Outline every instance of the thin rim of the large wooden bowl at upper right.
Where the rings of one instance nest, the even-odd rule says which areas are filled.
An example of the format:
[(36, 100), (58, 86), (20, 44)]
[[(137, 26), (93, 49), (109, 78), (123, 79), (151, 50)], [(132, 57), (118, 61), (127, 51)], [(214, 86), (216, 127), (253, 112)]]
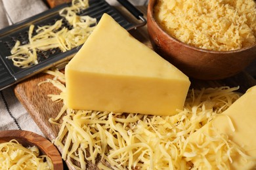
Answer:
[[(200, 51), (200, 52), (206, 52), (206, 53), (211, 53), (211, 54), (234, 54), (234, 53), (238, 53), (238, 52), (244, 52), (246, 50), (249, 49), (253, 49), (256, 48), (256, 42), (254, 42), (251, 46), (245, 46), (244, 48), (240, 48), (240, 49), (236, 49), (236, 50), (228, 50), (228, 51), (218, 51), (218, 50), (207, 50), (207, 49), (203, 49), (203, 48), (199, 48), (196, 46), (192, 46), (189, 44), (186, 44), (185, 42), (179, 41), (178, 39), (176, 39), (175, 37), (169, 35), (165, 29), (163, 29), (161, 27), (161, 25), (155, 20), (154, 17), (154, 5), (156, 4), (158, 0), (149, 0), (148, 2), (148, 19), (150, 18), (152, 20), (152, 24), (154, 24), (160, 31), (162, 31), (162, 33), (168, 37), (169, 39), (171, 39), (171, 41), (174, 41), (178, 44), (181, 44), (182, 46), (185, 46), (186, 48), (190, 48), (192, 50), (196, 50), (196, 51)], [(256, 56), (255, 56), (256, 58)]]

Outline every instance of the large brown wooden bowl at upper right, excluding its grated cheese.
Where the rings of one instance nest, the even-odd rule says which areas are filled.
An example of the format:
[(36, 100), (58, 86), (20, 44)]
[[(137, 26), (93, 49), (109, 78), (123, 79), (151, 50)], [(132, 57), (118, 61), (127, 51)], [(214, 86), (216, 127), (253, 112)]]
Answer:
[(148, 3), (150, 41), (160, 56), (184, 74), (202, 80), (218, 80), (236, 75), (256, 59), (256, 43), (240, 50), (213, 51), (190, 46), (171, 37), (154, 19), (156, 1)]

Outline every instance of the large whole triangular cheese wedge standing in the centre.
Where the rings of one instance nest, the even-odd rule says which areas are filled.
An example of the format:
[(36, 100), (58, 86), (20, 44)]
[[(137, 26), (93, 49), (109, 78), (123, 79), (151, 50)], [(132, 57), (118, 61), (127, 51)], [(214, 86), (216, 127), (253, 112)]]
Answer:
[(137, 41), (108, 14), (66, 65), (72, 109), (172, 115), (182, 109), (190, 80)]

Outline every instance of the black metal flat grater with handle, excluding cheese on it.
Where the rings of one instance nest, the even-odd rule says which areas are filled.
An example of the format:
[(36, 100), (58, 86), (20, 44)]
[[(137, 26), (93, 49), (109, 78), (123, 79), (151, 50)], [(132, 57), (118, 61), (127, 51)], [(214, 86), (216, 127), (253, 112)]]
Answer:
[[(133, 5), (131, 5), (129, 1), (117, 1), (119, 1), (121, 5), (123, 5), (142, 22), (139, 24), (133, 24), (129, 22), (105, 0), (89, 0), (89, 8), (81, 10), (79, 15), (89, 15), (93, 18), (96, 18), (98, 22), (102, 14), (107, 13), (127, 30), (135, 29), (136, 27), (140, 27), (146, 24), (146, 20), (144, 19), (143, 14)], [(14, 66), (12, 60), (6, 58), (6, 56), (11, 55), (11, 48), (14, 46), (17, 40), (19, 40), (22, 44), (28, 43), (28, 29), (30, 25), (33, 24), (35, 27), (40, 25), (53, 25), (56, 20), (60, 20), (62, 18), (58, 14), (59, 10), (70, 5), (72, 4), (65, 3), (0, 30), (0, 90), (3, 90), (4, 88), (7, 88), (16, 82), (20, 82), (21, 80), (35, 75), (45, 69), (67, 63), (81, 48), (81, 46), (77, 46), (76, 48), (73, 48), (67, 52), (61, 52), (58, 48), (37, 52), (37, 59), (39, 63), (26, 69), (21, 69)], [(68, 22), (65, 22), (65, 20), (63, 21), (64, 24), (62, 26), (70, 27)]]

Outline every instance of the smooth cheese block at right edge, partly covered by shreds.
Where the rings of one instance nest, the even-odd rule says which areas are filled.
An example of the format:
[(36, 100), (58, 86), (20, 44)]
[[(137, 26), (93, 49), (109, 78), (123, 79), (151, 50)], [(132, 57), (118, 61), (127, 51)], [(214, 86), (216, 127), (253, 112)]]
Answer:
[[(228, 139), (244, 150), (247, 156), (254, 159), (246, 160), (242, 155), (231, 156), (230, 169), (256, 169), (256, 86), (253, 86), (235, 101), (227, 110), (205, 124), (200, 130), (188, 138), (189, 143), (205, 143), (203, 135), (214, 137), (217, 134), (228, 135)], [(216, 131), (211, 130), (214, 128)], [(214, 142), (213, 142), (214, 143)], [(216, 146), (215, 148), (217, 148)], [(232, 153), (231, 153), (232, 154)]]

